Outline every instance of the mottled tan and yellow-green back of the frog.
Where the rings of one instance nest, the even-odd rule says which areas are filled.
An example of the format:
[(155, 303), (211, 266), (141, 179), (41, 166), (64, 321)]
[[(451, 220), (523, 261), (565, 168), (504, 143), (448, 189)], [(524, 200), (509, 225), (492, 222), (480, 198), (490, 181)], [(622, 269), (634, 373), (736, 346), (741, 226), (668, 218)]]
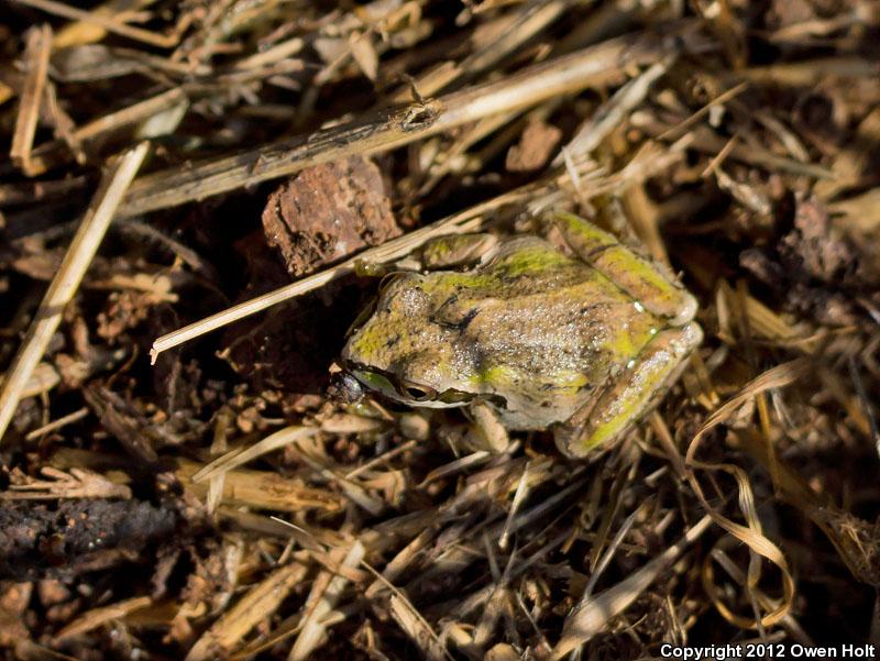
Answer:
[(658, 326), (608, 278), (535, 236), (502, 244), (432, 307), (437, 323), (458, 331), (461, 377), (504, 396), (512, 428), (564, 420)]

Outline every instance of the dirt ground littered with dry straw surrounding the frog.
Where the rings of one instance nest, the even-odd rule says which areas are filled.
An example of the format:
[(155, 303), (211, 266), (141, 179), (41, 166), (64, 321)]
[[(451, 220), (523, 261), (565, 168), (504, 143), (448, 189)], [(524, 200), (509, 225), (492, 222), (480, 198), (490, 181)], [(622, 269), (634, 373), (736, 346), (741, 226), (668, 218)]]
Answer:
[[(554, 210), (698, 300), (656, 410), (345, 401), (381, 276)], [(0, 0), (3, 658), (870, 651), (878, 348), (875, 0)]]

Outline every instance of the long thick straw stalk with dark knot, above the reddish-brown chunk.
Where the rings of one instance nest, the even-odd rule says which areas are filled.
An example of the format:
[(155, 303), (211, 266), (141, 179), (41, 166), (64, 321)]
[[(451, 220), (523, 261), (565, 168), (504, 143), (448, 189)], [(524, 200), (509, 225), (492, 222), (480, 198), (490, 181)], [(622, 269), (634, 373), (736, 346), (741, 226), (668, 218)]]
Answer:
[[(682, 29), (685, 42), (692, 25)], [(175, 207), (352, 154), (386, 152), (498, 112), (581, 91), (628, 66), (650, 64), (674, 53), (679, 44), (656, 36), (618, 37), (426, 103), (383, 110), (369, 119), (261, 145), (235, 156), (165, 169), (132, 187), (125, 214)]]

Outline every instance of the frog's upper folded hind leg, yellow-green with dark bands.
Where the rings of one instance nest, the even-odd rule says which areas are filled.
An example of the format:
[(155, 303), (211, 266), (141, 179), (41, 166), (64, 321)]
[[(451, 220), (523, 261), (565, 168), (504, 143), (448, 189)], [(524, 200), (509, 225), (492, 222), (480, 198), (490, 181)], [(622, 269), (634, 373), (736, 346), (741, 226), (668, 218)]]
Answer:
[(675, 283), (664, 267), (644, 257), (573, 213), (558, 212), (554, 225), (565, 243), (584, 262), (607, 277), (646, 310), (672, 326), (689, 322), (696, 313), (696, 299)]

